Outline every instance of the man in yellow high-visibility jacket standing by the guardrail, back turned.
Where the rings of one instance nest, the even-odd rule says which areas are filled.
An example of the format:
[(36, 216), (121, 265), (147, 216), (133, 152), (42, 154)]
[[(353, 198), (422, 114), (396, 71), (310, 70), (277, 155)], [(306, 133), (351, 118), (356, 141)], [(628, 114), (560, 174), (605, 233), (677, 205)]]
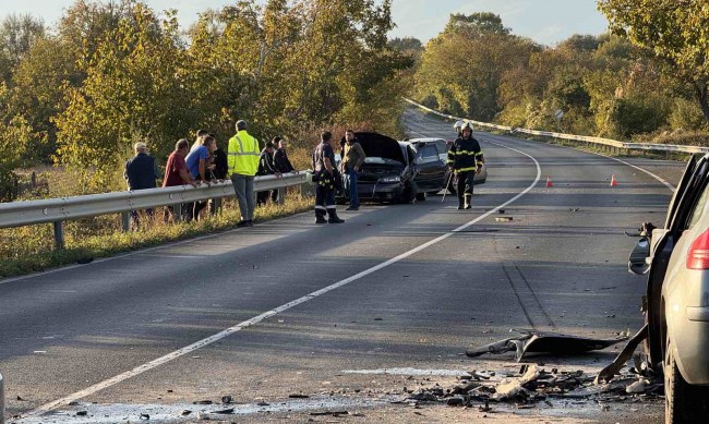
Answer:
[(237, 134), (229, 140), (227, 163), (237, 193), (241, 220), (237, 227), (253, 227), (253, 180), (259, 169), (259, 141), (247, 132), (247, 122), (237, 122)]

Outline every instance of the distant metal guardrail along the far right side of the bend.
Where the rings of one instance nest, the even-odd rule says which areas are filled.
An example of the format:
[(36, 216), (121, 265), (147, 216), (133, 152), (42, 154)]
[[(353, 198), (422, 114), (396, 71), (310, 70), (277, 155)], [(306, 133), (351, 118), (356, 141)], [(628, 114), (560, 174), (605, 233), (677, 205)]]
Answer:
[(488, 128), (488, 129), (493, 129), (493, 130), (501, 130), (501, 131), (507, 131), (507, 132), (513, 132), (513, 133), (524, 133), (524, 134), (530, 134), (530, 135), (541, 135), (545, 137), (552, 137), (552, 138), (560, 138), (560, 140), (573, 140), (577, 142), (586, 142), (586, 143), (593, 143), (593, 144), (601, 144), (605, 146), (611, 146), (611, 147), (618, 147), (618, 148), (627, 148), (627, 149), (637, 149), (637, 150), (661, 150), (661, 152), (678, 152), (678, 153), (709, 153), (709, 147), (699, 147), (699, 146), (680, 146), (675, 144), (650, 144), (650, 143), (624, 143), (624, 142), (618, 142), (615, 140), (610, 140), (610, 138), (601, 138), (601, 137), (590, 137), (586, 135), (575, 135), (575, 134), (564, 134), (564, 133), (555, 133), (551, 131), (537, 131), (537, 130), (529, 130), (529, 129), (522, 129), (522, 128), (513, 128), (513, 126), (506, 126), (506, 125), (497, 125), (494, 123), (489, 123), (489, 122), (479, 122), (479, 121), (472, 121), (469, 119), (465, 118), (459, 118), (459, 117), (454, 117), (452, 114), (446, 114), (446, 113), (441, 113), (436, 110), (433, 110), (431, 108), (426, 108), (425, 106), (418, 104), (413, 100), (410, 100), (408, 98), (404, 98), (404, 100), (408, 101), (409, 104), (425, 110), (426, 112), (436, 114), (442, 118), (446, 119), (452, 119), (456, 121), (464, 121), (464, 122), (470, 122), (473, 125), (482, 126), (482, 128)]

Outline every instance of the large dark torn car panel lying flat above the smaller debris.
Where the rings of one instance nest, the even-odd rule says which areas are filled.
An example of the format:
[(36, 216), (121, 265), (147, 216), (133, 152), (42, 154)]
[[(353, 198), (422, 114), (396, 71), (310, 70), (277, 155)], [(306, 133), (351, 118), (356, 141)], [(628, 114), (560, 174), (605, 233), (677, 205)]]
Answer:
[(494, 343), (470, 348), (466, 351), (466, 355), (476, 358), (485, 353), (501, 354), (514, 350), (515, 358), (520, 361), (527, 353), (578, 354), (605, 349), (628, 339), (625, 335), (613, 339), (591, 339), (537, 330), (512, 329), (509, 331), (518, 335)]

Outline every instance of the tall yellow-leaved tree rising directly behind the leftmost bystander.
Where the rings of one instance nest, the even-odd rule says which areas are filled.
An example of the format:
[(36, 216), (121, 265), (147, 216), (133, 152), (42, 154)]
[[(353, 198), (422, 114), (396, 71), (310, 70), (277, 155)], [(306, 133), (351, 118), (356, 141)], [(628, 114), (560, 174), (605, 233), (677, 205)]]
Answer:
[(144, 3), (132, 8), (97, 45), (86, 80), (68, 89), (69, 106), (55, 120), (58, 158), (89, 190), (117, 187), (133, 143), (147, 141), (161, 157), (193, 124), (175, 15), (160, 21)]

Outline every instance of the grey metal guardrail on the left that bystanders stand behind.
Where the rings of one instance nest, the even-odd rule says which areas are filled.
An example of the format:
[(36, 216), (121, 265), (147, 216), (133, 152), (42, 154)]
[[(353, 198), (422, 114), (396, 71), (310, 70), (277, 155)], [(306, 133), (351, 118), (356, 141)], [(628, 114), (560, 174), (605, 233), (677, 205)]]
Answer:
[[(281, 177), (264, 175), (254, 180), (254, 192), (280, 190), (308, 182), (308, 172), (290, 172)], [(57, 245), (63, 244), (63, 221), (121, 213), (158, 206), (180, 205), (209, 198), (233, 197), (230, 181), (214, 182), (196, 187), (178, 185), (171, 187), (92, 194), (44, 201), (0, 204), (0, 228), (14, 228), (52, 222)], [(283, 198), (283, 196), (281, 196)]]

